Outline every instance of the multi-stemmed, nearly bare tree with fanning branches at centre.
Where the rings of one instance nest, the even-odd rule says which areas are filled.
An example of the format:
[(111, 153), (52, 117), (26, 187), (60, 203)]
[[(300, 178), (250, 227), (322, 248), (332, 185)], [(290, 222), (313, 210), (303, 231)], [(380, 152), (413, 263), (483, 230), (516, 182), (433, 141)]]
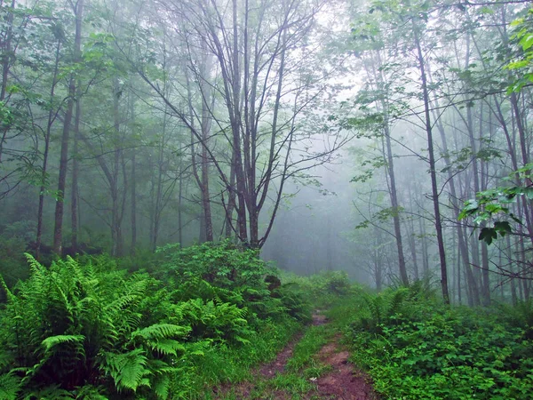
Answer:
[[(206, 108), (194, 114), (205, 116), (207, 111), (218, 129), (217, 140), (208, 142), (202, 128), (205, 124), (195, 124), (190, 110), (179, 106), (182, 92), (174, 91), (177, 98), (172, 98), (150, 76), (146, 65), (132, 63), (202, 145), (203, 160), (207, 157), (219, 174), (223, 187), (220, 202), (239, 241), (260, 248), (272, 229), (287, 180), (302, 178), (307, 170), (329, 162), (349, 138), (349, 133), (329, 129), (316, 132), (303, 124), (306, 111), (320, 100), (333, 69), (306, 45), (306, 36), (312, 35), (314, 17), (322, 4), (242, 4), (236, 0), (158, 3), (160, 14), (182, 22), (175, 29), (178, 38), (174, 40), (186, 40), (188, 49), (198, 44), (195, 48), (205, 49), (215, 60), (212, 70), (202, 70), (197, 66), (203, 65), (203, 51), (199, 59), (195, 59), (195, 53), (186, 52), (187, 68), (195, 74), (201, 107)], [(206, 85), (218, 93), (219, 101), (213, 103)], [(224, 108), (218, 108), (219, 103)], [(322, 124), (325, 121), (322, 118)], [(319, 140), (322, 143), (316, 146)], [(231, 149), (229, 158), (216, 152), (221, 142)], [(273, 199), (272, 211), (261, 232), (259, 215), (269, 197)], [(234, 207), (236, 220), (231, 218)]]

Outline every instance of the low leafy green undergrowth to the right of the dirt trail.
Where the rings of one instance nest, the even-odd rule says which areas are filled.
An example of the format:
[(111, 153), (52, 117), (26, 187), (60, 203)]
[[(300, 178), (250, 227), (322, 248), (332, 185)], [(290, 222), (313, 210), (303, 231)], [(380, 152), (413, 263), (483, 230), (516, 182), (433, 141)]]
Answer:
[(449, 308), (417, 286), (365, 295), (366, 308), (354, 309), (354, 320), (346, 327), (357, 349), (354, 362), (370, 372), (381, 395), (533, 396), (533, 342), (525, 323), (529, 312)]

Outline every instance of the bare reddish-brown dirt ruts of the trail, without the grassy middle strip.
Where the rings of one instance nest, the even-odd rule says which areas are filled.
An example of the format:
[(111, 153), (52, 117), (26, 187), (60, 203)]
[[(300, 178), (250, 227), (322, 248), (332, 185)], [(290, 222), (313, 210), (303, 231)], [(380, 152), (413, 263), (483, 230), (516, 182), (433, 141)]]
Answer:
[[(310, 326), (325, 325), (327, 328), (327, 324), (326, 316), (317, 311)], [(322, 365), (322, 370), (325, 372), (318, 377), (307, 379), (311, 388), (295, 394), (279, 385), (277, 381), (283, 380), (289, 374), (287, 364), (304, 334), (305, 332), (298, 333), (272, 362), (260, 365), (252, 372), (252, 380), (233, 386), (222, 386), (216, 389), (214, 398), (378, 400), (369, 378), (348, 361), (350, 354), (341, 345), (342, 336), (338, 333), (332, 335), (313, 356), (314, 363)]]

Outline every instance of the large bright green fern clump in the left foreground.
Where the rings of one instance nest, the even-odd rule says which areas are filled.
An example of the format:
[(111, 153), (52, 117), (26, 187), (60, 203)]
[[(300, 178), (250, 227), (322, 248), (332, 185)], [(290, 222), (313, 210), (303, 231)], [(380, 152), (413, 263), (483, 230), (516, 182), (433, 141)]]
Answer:
[[(181, 341), (190, 328), (144, 323), (146, 274), (99, 270), (68, 258), (40, 265), (10, 291), (0, 316), (0, 398), (96, 398), (153, 388), (168, 395)], [(58, 386), (59, 385), (59, 386)], [(44, 396), (56, 388), (54, 395)]]

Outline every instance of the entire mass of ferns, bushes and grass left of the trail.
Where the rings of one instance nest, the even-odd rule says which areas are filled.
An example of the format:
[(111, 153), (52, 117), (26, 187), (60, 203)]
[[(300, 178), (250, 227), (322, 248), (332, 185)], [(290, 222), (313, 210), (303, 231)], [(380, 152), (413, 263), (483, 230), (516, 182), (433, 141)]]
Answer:
[(195, 251), (166, 249), (164, 284), (107, 255), (50, 268), (28, 255), (28, 280), (0, 279), (0, 398), (189, 399), (272, 358), (308, 318), (305, 301), (269, 286), (275, 271), (255, 252)]

